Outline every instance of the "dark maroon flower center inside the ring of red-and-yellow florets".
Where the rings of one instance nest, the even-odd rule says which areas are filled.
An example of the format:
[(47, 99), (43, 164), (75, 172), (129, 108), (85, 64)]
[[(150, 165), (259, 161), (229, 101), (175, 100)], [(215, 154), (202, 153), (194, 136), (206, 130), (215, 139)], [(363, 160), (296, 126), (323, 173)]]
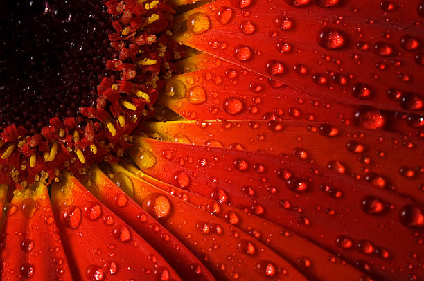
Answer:
[(110, 59), (102, 0), (0, 1), (0, 129), (39, 132), (93, 105)]

